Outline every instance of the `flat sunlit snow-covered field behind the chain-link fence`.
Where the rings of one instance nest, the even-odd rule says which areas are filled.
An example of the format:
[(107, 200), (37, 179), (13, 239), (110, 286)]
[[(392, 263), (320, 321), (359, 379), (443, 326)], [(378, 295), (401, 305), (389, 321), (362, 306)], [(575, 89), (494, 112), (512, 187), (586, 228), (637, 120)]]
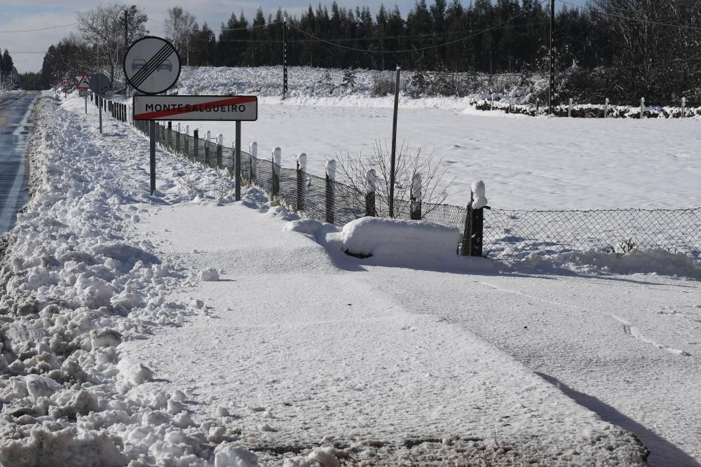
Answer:
[[(180, 94), (254, 92), (273, 96), (277, 69), (185, 69)], [(243, 146), (257, 141), (259, 157), (283, 149), (283, 167), (308, 155), (308, 171), (323, 174), (327, 158), (372, 153), (389, 145), (391, 97), (365, 88), (338, 97), (313, 88), (322, 71), (296, 69), (305, 83), (292, 97), (261, 97), (258, 120), (242, 124)], [(361, 75), (365, 76), (365, 75)], [(364, 78), (369, 80), (369, 78)], [(296, 81), (295, 81), (296, 80)], [(227, 88), (227, 85), (229, 88)], [(227, 146), (233, 123), (189, 122), (200, 135), (222, 133)], [(398, 141), (411, 151), (433, 153), (454, 180), (446, 202), (464, 206), (470, 184), (483, 180), (489, 204), (499, 209), (681, 208), (701, 206), (701, 144), (693, 119), (568, 119), (506, 116), (475, 111), (467, 99), (402, 99)]]

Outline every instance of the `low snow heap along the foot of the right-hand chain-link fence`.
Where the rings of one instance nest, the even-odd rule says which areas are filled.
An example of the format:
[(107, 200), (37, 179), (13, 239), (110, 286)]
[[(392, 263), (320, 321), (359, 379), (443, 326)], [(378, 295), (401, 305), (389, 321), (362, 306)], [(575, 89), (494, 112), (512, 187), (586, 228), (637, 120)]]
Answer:
[(570, 251), (552, 256), (531, 254), (525, 266), (538, 270), (564, 268), (588, 274), (659, 274), (701, 280), (701, 268), (683, 253), (664, 249), (635, 249), (616, 255), (602, 251)]

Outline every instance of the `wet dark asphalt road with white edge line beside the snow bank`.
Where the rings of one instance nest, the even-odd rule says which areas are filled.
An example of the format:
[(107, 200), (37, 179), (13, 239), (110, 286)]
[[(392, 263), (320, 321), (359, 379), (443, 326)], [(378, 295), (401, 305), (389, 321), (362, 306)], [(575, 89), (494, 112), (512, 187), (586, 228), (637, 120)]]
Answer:
[(0, 233), (15, 224), (27, 202), (27, 144), (34, 128), (36, 92), (0, 94)]

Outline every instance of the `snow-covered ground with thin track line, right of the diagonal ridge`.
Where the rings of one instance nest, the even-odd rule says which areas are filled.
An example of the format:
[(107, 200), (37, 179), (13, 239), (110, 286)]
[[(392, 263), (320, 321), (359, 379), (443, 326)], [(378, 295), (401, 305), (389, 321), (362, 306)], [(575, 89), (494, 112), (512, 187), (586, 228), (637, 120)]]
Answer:
[(651, 449), (651, 465), (694, 466), (701, 459), (697, 281), (648, 274), (473, 277), (388, 267), (360, 275), (408, 310), (460, 323), (564, 384), (579, 403), (636, 433)]

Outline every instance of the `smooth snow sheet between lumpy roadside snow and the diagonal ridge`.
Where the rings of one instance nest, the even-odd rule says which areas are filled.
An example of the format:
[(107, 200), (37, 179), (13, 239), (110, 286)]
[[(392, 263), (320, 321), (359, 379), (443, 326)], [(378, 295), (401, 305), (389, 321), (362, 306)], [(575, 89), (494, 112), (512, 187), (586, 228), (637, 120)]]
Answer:
[[(143, 390), (180, 388), (203, 403), (192, 407), (196, 415), (233, 415), (263, 459), (324, 439), (339, 447), (376, 439), (385, 450), (372, 456), (390, 464), (629, 462), (620, 456), (629, 446), (615, 431), (607, 436), (591, 412), (436, 314), (455, 295), (422, 297), (435, 285), (418, 284), (426, 272), (399, 270), (416, 282), (397, 293), (418, 303), (399, 300), (390, 290), (398, 284), (388, 282), (395, 270), (329, 257), (259, 213), (266, 205), (256, 197), (249, 193), (248, 207), (152, 207), (137, 225), (160, 256), (191, 274), (223, 270), (222, 280), (193, 281), (168, 298), (202, 298), (200, 319), (121, 345), (165, 380)], [(592, 424), (604, 430), (594, 435)], [(509, 454), (484, 452), (485, 442)]]

